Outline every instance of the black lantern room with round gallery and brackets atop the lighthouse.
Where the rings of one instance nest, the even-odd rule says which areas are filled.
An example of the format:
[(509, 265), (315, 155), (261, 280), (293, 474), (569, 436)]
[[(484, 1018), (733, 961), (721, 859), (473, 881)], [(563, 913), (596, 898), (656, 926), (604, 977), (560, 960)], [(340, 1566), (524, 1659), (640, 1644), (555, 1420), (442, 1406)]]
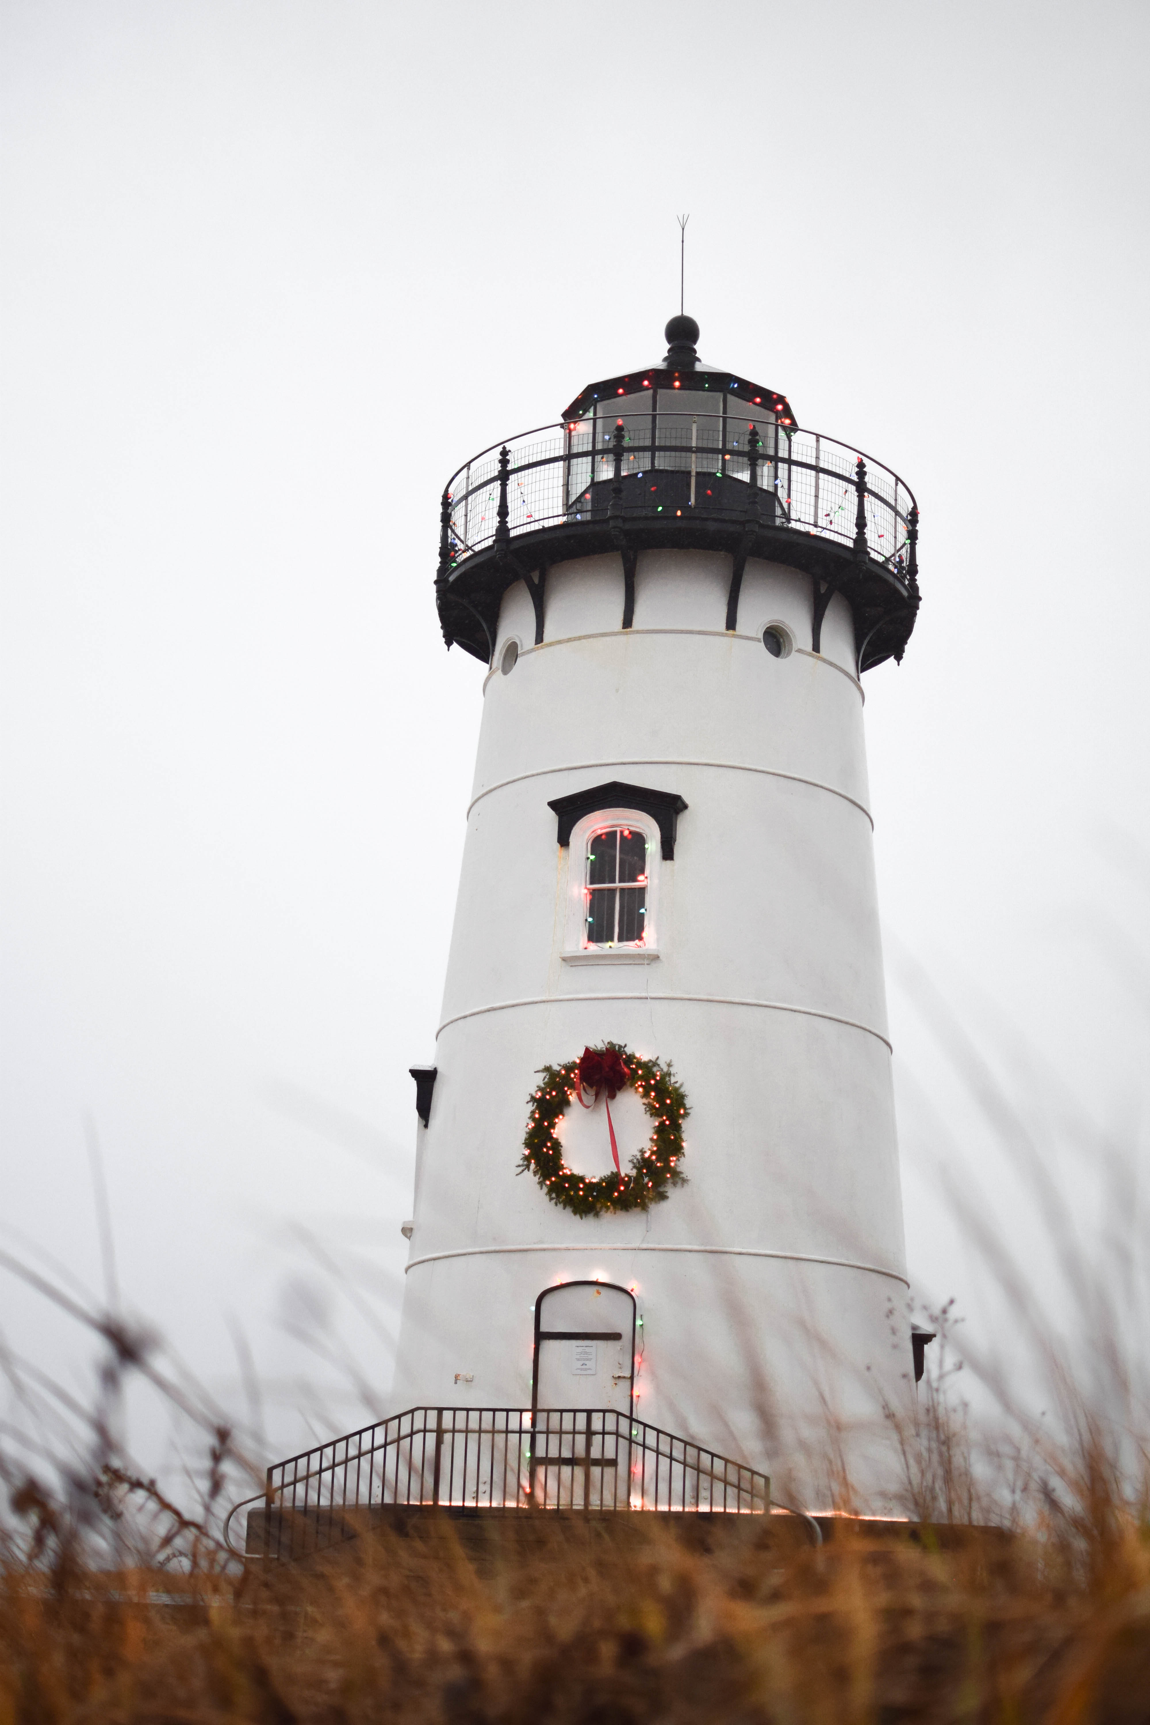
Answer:
[(617, 552), (621, 628), (643, 550), (731, 557), (724, 616), (738, 630), (748, 557), (812, 580), (812, 640), (834, 593), (852, 609), (855, 669), (900, 659), (919, 605), (917, 509), (897, 473), (802, 430), (778, 390), (700, 361), (698, 324), (672, 317), (655, 366), (590, 383), (557, 426), (493, 445), (443, 493), (436, 602), (443, 637), (491, 662), (502, 595), (524, 581), (543, 640), (548, 568)]

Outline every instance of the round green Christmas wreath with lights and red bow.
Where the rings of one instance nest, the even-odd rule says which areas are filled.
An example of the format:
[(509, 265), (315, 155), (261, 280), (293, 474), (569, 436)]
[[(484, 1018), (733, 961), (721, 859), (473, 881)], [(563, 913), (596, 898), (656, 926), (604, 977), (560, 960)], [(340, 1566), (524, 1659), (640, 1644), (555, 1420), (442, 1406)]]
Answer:
[[(531, 1118), (522, 1140), (519, 1171), (529, 1168), (552, 1204), (560, 1204), (576, 1216), (605, 1216), (628, 1209), (650, 1209), (662, 1204), (669, 1187), (683, 1185), (683, 1121), (690, 1114), (683, 1085), (676, 1082), (667, 1061), (645, 1061), (628, 1054), (624, 1042), (603, 1042), (564, 1066), (541, 1066), (541, 1085), (531, 1092), (528, 1107)], [(619, 1166), (619, 1145), (610, 1118), (610, 1104), (628, 1085), (641, 1099), (653, 1126), (647, 1149), (631, 1157), (629, 1168)], [(564, 1161), (562, 1144), (555, 1126), (572, 1102), (593, 1107), (600, 1094), (607, 1107), (607, 1130), (616, 1171), (598, 1180), (584, 1178)], [(586, 1097), (591, 1097), (588, 1102)]]

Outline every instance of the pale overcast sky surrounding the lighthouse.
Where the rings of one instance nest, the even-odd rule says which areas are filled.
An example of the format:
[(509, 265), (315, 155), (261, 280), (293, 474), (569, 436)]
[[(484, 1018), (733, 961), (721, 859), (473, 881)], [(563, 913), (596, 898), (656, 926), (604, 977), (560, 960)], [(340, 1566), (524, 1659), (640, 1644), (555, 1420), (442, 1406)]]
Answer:
[(390, 1321), (483, 676), (436, 624), (440, 490), (662, 352), (690, 210), (702, 352), (922, 509), (867, 740), (910, 1264), (976, 1325), (929, 1109), (1038, 1230), (907, 966), (1128, 1140), (1145, 1094), (1147, 7), (0, 17), (0, 1244), (98, 1295), (88, 1111), (126, 1306), (240, 1408), (241, 1330), (272, 1452), (362, 1409), (300, 1416), (333, 1378), (284, 1320), (326, 1308), (383, 1399), (386, 1340), (293, 1230)]

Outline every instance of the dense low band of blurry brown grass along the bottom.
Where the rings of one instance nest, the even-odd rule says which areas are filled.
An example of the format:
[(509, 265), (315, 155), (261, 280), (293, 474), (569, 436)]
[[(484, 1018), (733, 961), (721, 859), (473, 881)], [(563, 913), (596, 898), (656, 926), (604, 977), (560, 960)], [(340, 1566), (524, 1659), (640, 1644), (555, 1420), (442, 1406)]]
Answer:
[(641, 1520), (548, 1518), (531, 1549), (445, 1520), (243, 1577), (10, 1566), (0, 1718), (1150, 1718), (1150, 1539), (1114, 1506), (1097, 1546), (862, 1527), (817, 1552), (772, 1518), (703, 1551)]

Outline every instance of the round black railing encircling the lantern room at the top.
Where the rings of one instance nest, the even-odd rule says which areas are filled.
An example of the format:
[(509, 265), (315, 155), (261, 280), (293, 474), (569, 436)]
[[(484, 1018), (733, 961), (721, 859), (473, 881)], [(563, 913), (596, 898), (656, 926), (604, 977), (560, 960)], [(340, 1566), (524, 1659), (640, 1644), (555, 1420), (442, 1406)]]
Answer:
[(907, 581), (914, 493), (888, 467), (819, 431), (676, 411), (541, 426), (493, 445), (443, 493), (440, 564), (540, 528), (610, 516), (760, 519), (862, 552)]

